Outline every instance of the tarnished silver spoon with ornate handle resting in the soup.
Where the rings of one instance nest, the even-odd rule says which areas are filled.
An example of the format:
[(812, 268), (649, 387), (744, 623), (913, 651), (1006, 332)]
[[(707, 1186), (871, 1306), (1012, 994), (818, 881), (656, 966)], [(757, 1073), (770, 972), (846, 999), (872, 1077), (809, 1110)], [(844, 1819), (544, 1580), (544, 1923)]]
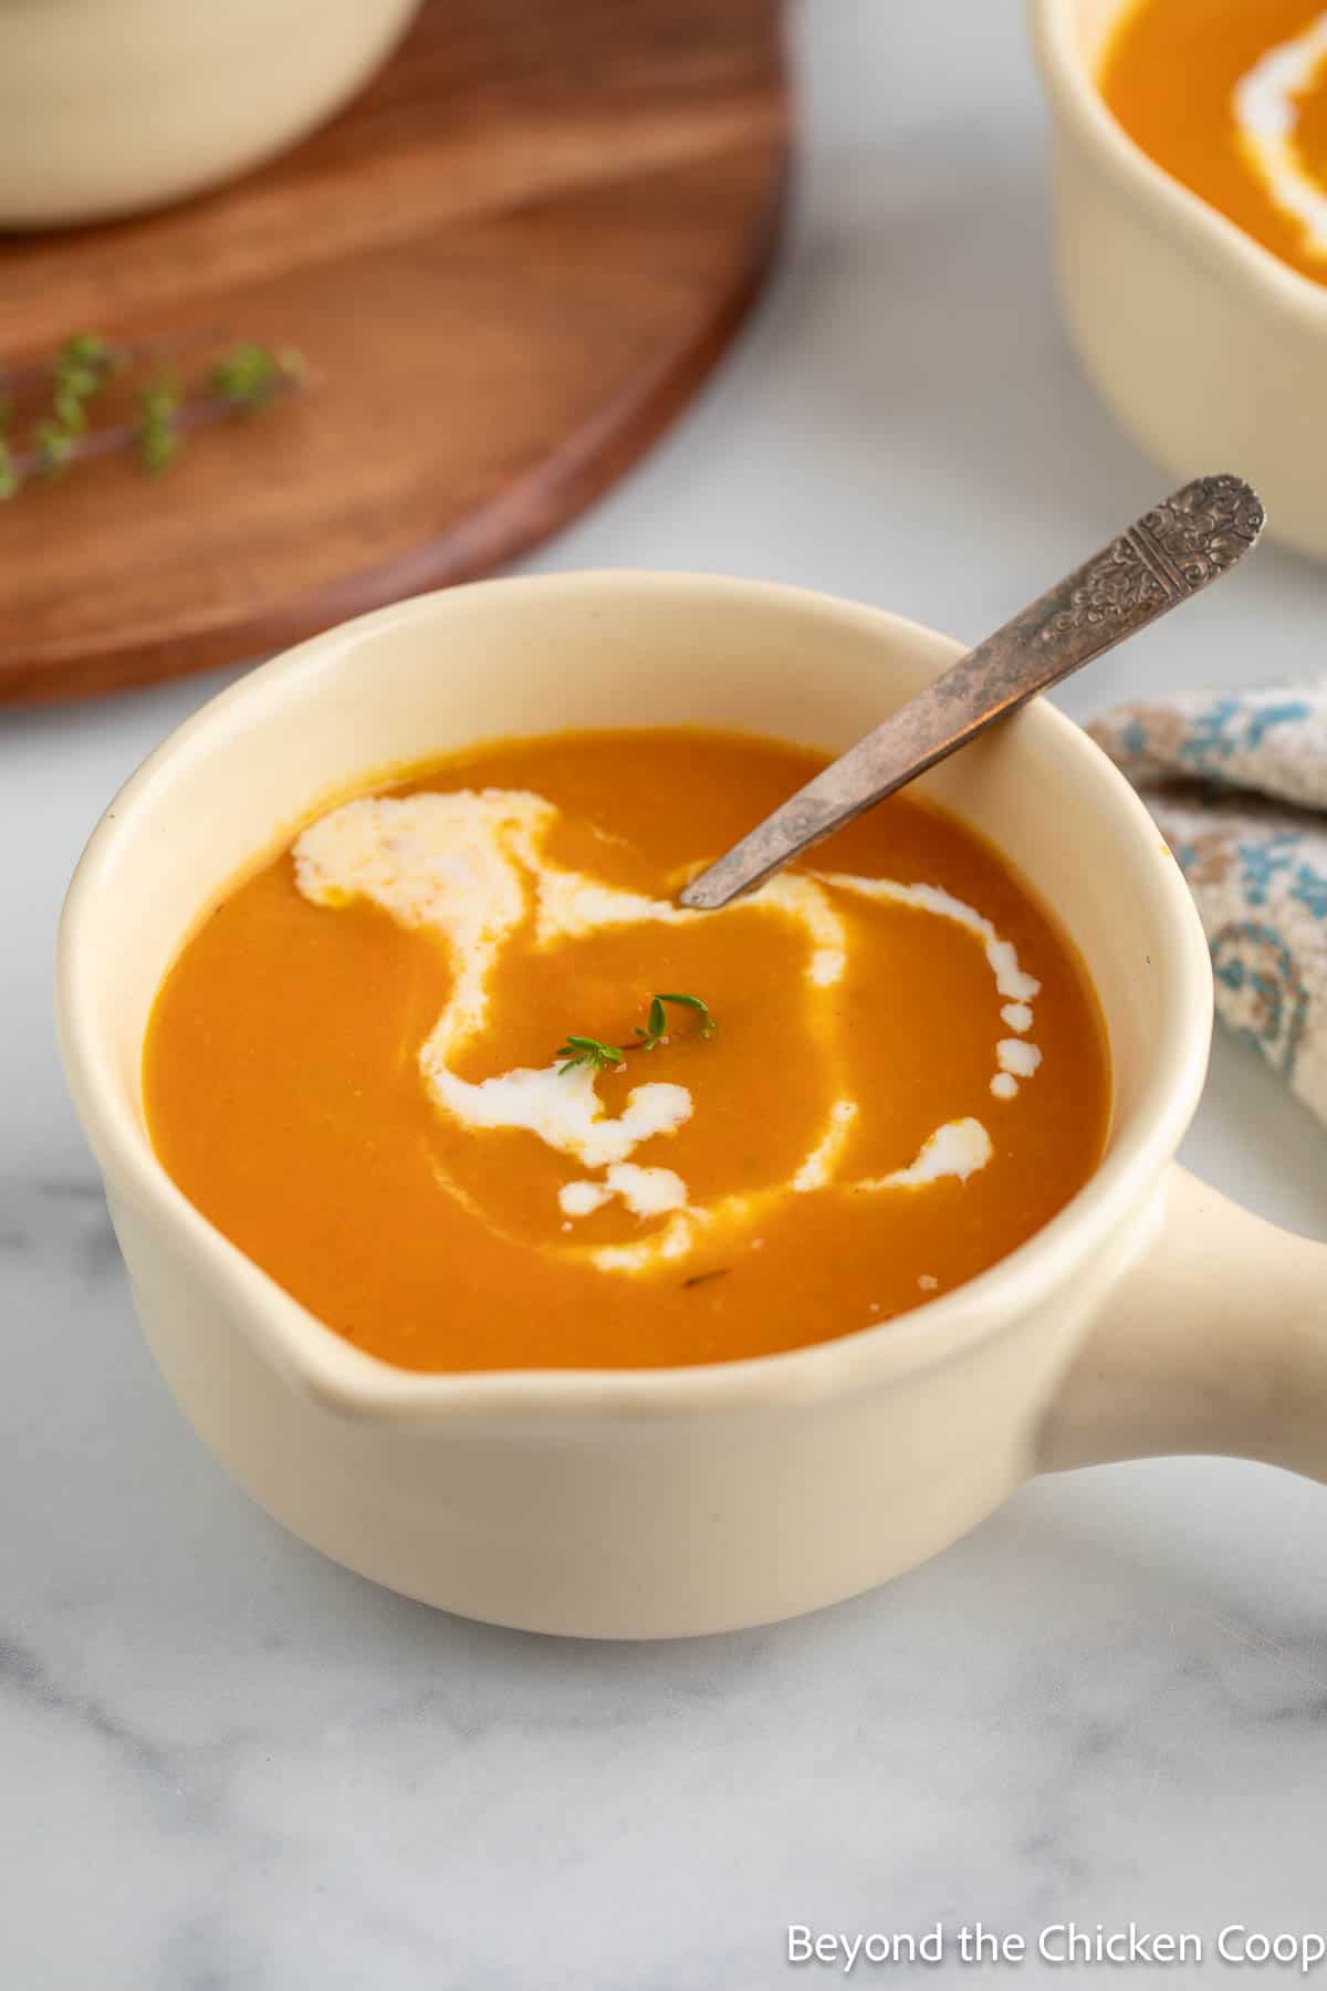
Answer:
[(1241, 478), (1196, 478), (899, 705), (678, 894), (714, 912), (883, 802), (1027, 699), (1202, 593), (1257, 542), (1265, 512)]

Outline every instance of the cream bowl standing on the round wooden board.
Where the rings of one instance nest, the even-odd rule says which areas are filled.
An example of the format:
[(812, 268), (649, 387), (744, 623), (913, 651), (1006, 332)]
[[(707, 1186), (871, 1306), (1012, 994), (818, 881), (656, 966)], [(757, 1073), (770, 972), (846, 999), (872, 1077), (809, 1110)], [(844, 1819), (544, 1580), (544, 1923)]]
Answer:
[(338, 110), (420, 0), (0, 0), (0, 227), (243, 173)]

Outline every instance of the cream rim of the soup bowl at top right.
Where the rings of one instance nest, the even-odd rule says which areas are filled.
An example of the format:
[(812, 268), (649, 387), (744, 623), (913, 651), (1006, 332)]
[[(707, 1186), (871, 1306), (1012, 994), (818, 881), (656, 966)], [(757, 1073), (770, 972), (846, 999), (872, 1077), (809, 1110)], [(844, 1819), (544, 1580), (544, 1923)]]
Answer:
[[(1076, 127), (1096, 163), (1116, 185), (1130, 199), (1150, 207), (1174, 235), (1184, 237), (1190, 251), (1198, 249), (1218, 275), (1230, 279), (1233, 273), (1287, 319), (1313, 331), (1327, 331), (1327, 281), (1317, 283), (1283, 263), (1220, 207), (1212, 207), (1192, 187), (1174, 179), (1116, 121), (1070, 32), (1076, 4), (1078, 0), (1029, 0), (1033, 48), (1052, 110)], [(1134, 4), (1136, 0), (1116, 0), (1112, 24), (1118, 24)]]

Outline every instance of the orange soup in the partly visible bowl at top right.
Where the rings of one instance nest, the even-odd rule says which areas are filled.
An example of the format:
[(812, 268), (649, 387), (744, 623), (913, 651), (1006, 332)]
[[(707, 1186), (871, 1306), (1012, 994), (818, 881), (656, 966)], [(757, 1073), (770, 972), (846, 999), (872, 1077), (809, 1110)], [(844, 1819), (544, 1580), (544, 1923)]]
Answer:
[(1327, 283), (1327, 8), (1321, 0), (1134, 0), (1100, 90), (1176, 179)]

